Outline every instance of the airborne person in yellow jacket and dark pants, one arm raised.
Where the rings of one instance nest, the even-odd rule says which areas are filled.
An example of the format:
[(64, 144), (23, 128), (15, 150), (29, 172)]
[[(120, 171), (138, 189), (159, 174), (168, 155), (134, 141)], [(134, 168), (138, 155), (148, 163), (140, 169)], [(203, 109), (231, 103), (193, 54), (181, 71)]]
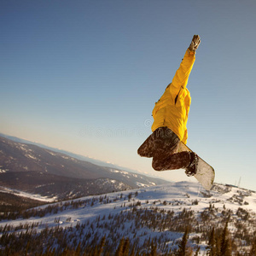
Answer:
[(201, 43), (195, 35), (186, 50), (183, 61), (153, 109), (153, 133), (138, 148), (143, 157), (153, 157), (155, 171), (185, 169), (188, 176), (194, 176), (198, 156), (194, 152), (180, 150), (180, 143), (187, 143), (187, 121), (191, 97), (187, 84), (189, 73), (195, 62), (195, 50)]

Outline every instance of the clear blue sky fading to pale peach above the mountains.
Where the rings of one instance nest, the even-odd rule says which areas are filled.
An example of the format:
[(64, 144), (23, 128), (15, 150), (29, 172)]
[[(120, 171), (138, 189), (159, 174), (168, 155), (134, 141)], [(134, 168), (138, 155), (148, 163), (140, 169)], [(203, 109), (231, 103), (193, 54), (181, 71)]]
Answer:
[(166, 179), (137, 156), (194, 34), (189, 148), (256, 189), (255, 1), (0, 3), (0, 132)]

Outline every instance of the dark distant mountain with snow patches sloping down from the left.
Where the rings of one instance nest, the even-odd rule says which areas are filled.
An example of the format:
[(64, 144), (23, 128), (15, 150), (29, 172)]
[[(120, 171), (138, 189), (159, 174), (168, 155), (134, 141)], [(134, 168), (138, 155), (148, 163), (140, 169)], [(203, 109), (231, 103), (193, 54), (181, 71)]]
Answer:
[(70, 156), (25, 142), (16, 137), (0, 137), (3, 188), (63, 200), (168, 183), (115, 167), (98, 166), (73, 157), (75, 154)]

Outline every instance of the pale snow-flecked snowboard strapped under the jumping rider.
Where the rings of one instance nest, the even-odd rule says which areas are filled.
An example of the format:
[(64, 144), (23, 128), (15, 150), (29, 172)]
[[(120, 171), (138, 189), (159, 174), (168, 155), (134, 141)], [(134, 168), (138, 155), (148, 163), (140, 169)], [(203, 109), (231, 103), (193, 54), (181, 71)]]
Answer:
[[(180, 143), (180, 147), (178, 148), (178, 152), (182, 151), (192, 151), (189, 147), (187, 147), (184, 143)], [(212, 183), (214, 181), (215, 172), (212, 166), (207, 164), (205, 160), (202, 160), (201, 157), (198, 157), (198, 166), (197, 172), (194, 177), (201, 183), (204, 189), (210, 190), (212, 189)]]

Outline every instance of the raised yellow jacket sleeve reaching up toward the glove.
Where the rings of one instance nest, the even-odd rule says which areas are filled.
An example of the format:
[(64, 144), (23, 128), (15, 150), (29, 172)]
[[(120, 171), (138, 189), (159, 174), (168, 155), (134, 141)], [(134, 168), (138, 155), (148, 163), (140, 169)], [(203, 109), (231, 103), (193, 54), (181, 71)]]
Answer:
[(189, 81), (189, 74), (195, 62), (195, 52), (186, 50), (177, 72), (172, 79), (172, 84), (169, 86), (169, 90), (172, 94), (172, 98), (175, 99), (181, 88), (185, 88)]

